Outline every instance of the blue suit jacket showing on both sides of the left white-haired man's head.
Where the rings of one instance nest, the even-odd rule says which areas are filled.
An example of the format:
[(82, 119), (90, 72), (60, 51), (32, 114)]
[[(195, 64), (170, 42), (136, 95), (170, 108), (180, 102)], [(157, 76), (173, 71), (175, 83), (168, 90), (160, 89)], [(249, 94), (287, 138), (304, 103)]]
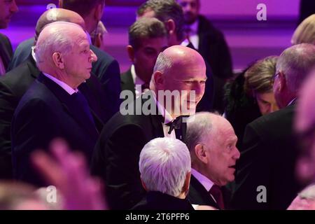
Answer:
[[(34, 38), (23, 41), (16, 48), (8, 71), (25, 62), (31, 55), (31, 46), (34, 45)], [(92, 73), (101, 81), (106, 94), (106, 104), (111, 105), (112, 113), (119, 111), (120, 106), (120, 69), (119, 64), (103, 50), (90, 45), (91, 50), (97, 55), (97, 62), (92, 63)]]

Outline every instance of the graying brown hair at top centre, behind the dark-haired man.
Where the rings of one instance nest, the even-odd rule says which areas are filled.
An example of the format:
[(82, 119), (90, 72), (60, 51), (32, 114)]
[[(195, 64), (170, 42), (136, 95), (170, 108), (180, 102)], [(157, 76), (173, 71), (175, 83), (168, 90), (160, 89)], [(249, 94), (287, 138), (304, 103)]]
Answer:
[(176, 25), (176, 36), (179, 41), (183, 40), (184, 34), (184, 15), (183, 8), (174, 0), (148, 0), (137, 10), (137, 15), (144, 15), (148, 10), (153, 10), (155, 18), (162, 22), (174, 20)]

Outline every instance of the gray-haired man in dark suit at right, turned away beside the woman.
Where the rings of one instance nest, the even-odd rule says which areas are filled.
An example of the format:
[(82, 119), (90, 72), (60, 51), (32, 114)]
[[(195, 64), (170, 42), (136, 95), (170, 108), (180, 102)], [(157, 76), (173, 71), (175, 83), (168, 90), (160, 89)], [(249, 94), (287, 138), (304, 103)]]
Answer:
[(300, 85), (314, 64), (315, 46), (307, 43), (287, 48), (279, 56), (273, 90), (280, 110), (246, 126), (233, 208), (287, 209), (300, 190), (295, 178), (298, 149), (293, 118)]

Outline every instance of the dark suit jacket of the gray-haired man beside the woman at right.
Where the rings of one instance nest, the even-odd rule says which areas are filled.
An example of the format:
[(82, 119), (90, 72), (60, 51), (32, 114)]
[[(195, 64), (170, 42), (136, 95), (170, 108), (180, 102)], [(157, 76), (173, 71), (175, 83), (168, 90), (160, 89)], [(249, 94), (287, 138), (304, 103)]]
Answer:
[[(233, 208), (287, 209), (297, 195), (294, 114), (295, 105), (290, 105), (247, 125), (237, 162)], [(265, 203), (257, 201), (262, 193), (258, 186), (267, 190)]]

